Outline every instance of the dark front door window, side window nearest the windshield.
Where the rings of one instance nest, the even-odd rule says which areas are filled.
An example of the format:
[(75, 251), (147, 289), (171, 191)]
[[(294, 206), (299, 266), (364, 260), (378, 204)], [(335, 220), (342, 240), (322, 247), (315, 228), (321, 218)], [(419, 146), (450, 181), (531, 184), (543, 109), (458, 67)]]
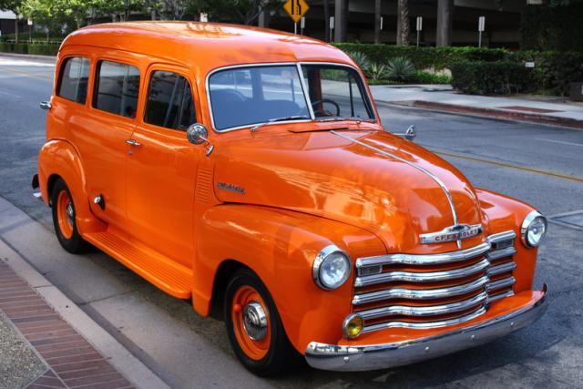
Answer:
[(164, 70), (152, 72), (146, 104), (146, 123), (186, 129), (196, 122), (189, 80), (179, 74)]

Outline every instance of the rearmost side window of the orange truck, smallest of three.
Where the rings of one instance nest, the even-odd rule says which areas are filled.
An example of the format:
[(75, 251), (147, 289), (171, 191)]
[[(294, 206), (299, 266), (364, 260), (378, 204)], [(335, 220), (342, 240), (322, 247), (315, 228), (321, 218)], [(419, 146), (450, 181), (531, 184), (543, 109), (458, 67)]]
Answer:
[(61, 75), (56, 95), (85, 104), (89, 80), (89, 60), (81, 56), (66, 58), (61, 66)]

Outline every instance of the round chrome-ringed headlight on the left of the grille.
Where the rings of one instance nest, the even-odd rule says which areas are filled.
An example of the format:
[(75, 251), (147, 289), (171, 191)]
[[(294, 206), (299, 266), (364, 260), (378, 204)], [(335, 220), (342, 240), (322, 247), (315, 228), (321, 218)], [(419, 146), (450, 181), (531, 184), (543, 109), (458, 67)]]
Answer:
[(348, 255), (331, 245), (322, 249), (312, 265), (312, 277), (316, 284), (325, 290), (339, 288), (350, 275)]

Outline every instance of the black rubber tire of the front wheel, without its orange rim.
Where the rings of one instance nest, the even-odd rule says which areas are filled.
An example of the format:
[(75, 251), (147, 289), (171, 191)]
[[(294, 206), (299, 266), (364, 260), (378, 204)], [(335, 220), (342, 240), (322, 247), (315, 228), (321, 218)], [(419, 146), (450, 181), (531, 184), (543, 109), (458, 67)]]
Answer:
[[(271, 331), (271, 343), (267, 354), (261, 359), (253, 359), (249, 357), (242, 350), (235, 335), (235, 326), (231, 312), (233, 297), (241, 286), (251, 286), (259, 292), (261, 299), (267, 304), (267, 309), (269, 310), (270, 326), (268, 327), (268, 331)], [(252, 374), (262, 377), (281, 375), (289, 373), (301, 363), (301, 354), (298, 353), (293, 348), (292, 343), (290, 343), (288, 336), (283, 329), (280, 314), (277, 312), (273, 299), (271, 299), (270, 292), (253, 271), (249, 269), (235, 271), (227, 285), (223, 307), (223, 317), (230, 345), (239, 358), (240, 363), (242, 363)]]

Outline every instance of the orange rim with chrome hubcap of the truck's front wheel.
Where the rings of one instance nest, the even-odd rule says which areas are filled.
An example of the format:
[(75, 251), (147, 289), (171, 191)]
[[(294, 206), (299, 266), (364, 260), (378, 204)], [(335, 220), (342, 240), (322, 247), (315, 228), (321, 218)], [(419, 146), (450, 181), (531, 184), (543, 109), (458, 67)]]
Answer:
[[(257, 327), (253, 325), (257, 323), (253, 321), (253, 319), (258, 319), (257, 312), (264, 313), (262, 315), (264, 321), (261, 321), (265, 324), (264, 326)], [(235, 337), (243, 353), (254, 360), (260, 360), (265, 357), (270, 350), (271, 344), (270, 312), (267, 309), (267, 304), (255, 288), (244, 285), (235, 292), (231, 305), (231, 320)], [(259, 328), (261, 330), (258, 333)], [(254, 337), (255, 339), (253, 339)]]

